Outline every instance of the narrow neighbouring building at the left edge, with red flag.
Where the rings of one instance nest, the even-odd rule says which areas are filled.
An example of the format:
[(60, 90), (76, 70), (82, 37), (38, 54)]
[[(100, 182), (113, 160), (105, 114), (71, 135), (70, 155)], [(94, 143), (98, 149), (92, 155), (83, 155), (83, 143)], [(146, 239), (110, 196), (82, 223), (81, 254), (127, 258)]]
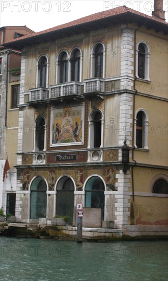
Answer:
[[(5, 213), (15, 214), (16, 201), (16, 169), (19, 91), (20, 91), (20, 65), (21, 52), (13, 48), (5, 48), (4, 42), (19, 38), (33, 31), (26, 26), (13, 26), (0, 28), (0, 207)], [(8, 157), (10, 170), (8, 178), (3, 182), (5, 162)]]

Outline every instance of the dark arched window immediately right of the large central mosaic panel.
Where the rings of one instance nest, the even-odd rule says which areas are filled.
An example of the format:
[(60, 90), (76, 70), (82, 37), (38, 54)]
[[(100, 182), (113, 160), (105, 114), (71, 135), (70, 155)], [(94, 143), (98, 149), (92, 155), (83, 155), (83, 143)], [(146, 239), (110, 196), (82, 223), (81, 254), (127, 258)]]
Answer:
[(102, 115), (95, 110), (89, 121), (89, 148), (99, 148), (102, 144)]

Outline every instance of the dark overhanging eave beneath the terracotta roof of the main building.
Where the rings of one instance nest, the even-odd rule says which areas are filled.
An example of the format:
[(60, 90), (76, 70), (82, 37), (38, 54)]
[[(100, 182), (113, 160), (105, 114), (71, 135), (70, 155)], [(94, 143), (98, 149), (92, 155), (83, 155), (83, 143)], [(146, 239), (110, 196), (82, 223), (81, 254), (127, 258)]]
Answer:
[[(55, 40), (55, 39), (60, 39), (62, 37), (66, 37), (68, 35), (65, 36), (61, 36), (59, 35), (59, 33), (63, 34), (66, 33), (67, 31), (70, 31), (72, 33), (74, 33), (74, 31), (76, 32), (76, 34), (79, 33), (83, 33), (83, 32), (87, 32), (87, 27), (89, 26), (89, 30), (91, 30), (91, 26), (94, 27), (94, 29), (100, 29), (100, 28), (105, 28), (111, 24), (119, 24), (120, 22), (124, 23), (133, 23), (133, 22), (137, 22), (138, 26), (144, 25), (146, 26), (148, 29), (155, 29), (157, 32), (162, 31), (164, 35), (167, 35), (167, 23), (166, 22), (161, 22), (158, 21), (155, 18), (149, 18), (146, 17), (145, 15), (138, 15), (135, 13), (132, 13), (131, 11), (126, 11), (123, 12), (121, 14), (117, 14), (117, 15), (111, 15), (109, 17), (105, 17), (105, 18), (100, 18), (97, 20), (92, 20), (89, 22), (85, 22), (82, 24), (78, 24), (78, 25), (73, 25), (70, 27), (65, 27), (62, 29), (57, 29), (57, 30), (52, 30), (52, 31), (48, 31), (46, 33), (42, 33), (42, 34), (32, 34), (29, 37), (24, 38), (20, 37), (18, 39), (15, 39), (11, 42), (6, 42), (4, 43), (4, 46), (8, 46), (10, 48), (19, 48), (19, 50), (21, 50), (23, 48), (23, 46), (25, 45), (25, 43), (42, 43), (44, 41), (49, 41), (49, 40)], [(107, 23), (107, 21), (109, 21), (109, 23)], [(78, 32), (77, 32), (78, 31)], [(55, 35), (53, 38), (53, 34)], [(70, 33), (68, 33), (69, 36), (71, 36)], [(52, 36), (52, 37), (51, 37)], [(45, 37), (45, 40), (44, 40)], [(50, 38), (48, 38), (50, 37)]]

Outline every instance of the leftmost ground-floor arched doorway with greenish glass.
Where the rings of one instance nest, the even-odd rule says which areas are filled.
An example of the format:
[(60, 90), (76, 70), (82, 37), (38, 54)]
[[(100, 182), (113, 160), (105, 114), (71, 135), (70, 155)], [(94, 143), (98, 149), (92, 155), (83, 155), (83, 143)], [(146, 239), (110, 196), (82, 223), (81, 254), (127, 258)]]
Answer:
[(47, 184), (41, 177), (37, 177), (31, 184), (31, 219), (46, 218)]

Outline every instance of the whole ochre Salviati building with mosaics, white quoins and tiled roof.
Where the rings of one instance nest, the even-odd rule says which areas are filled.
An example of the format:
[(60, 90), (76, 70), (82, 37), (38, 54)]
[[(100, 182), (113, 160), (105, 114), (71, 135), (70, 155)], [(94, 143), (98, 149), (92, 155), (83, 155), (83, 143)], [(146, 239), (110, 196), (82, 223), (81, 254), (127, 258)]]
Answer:
[(163, 15), (123, 6), (7, 44), (22, 52), (18, 221), (73, 224), (80, 203), (90, 227), (167, 225)]

